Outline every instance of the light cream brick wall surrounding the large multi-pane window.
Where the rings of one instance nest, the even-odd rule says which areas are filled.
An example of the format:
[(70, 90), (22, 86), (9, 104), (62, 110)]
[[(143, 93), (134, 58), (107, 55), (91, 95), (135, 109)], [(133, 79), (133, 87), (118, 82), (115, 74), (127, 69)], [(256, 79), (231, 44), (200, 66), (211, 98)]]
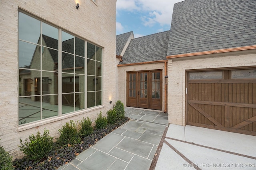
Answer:
[[(79, 10), (75, 8), (80, 4)], [(18, 126), (18, 11), (51, 23), (81, 39), (103, 48), (103, 97), (102, 106), (76, 111), (28, 125)], [(18, 146), (29, 135), (44, 128), (52, 137), (58, 137), (58, 129), (70, 120), (90, 117), (113, 107), (116, 97), (116, 0), (1, 0), (0, 1), (0, 138), (1, 145), (14, 158), (22, 152)], [(109, 104), (109, 100), (113, 103)]]

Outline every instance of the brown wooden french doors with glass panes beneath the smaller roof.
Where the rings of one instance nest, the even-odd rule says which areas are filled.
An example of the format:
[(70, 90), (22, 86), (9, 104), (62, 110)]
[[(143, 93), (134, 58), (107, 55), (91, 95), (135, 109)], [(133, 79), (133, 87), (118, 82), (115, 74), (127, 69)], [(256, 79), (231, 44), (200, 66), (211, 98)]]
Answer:
[(127, 106), (162, 110), (162, 70), (127, 73)]

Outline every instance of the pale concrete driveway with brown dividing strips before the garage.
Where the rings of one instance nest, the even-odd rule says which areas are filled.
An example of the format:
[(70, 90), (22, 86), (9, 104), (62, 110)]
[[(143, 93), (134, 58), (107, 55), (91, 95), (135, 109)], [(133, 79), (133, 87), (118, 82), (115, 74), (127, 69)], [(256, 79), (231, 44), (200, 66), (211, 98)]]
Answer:
[(256, 136), (170, 124), (155, 170), (256, 170)]

